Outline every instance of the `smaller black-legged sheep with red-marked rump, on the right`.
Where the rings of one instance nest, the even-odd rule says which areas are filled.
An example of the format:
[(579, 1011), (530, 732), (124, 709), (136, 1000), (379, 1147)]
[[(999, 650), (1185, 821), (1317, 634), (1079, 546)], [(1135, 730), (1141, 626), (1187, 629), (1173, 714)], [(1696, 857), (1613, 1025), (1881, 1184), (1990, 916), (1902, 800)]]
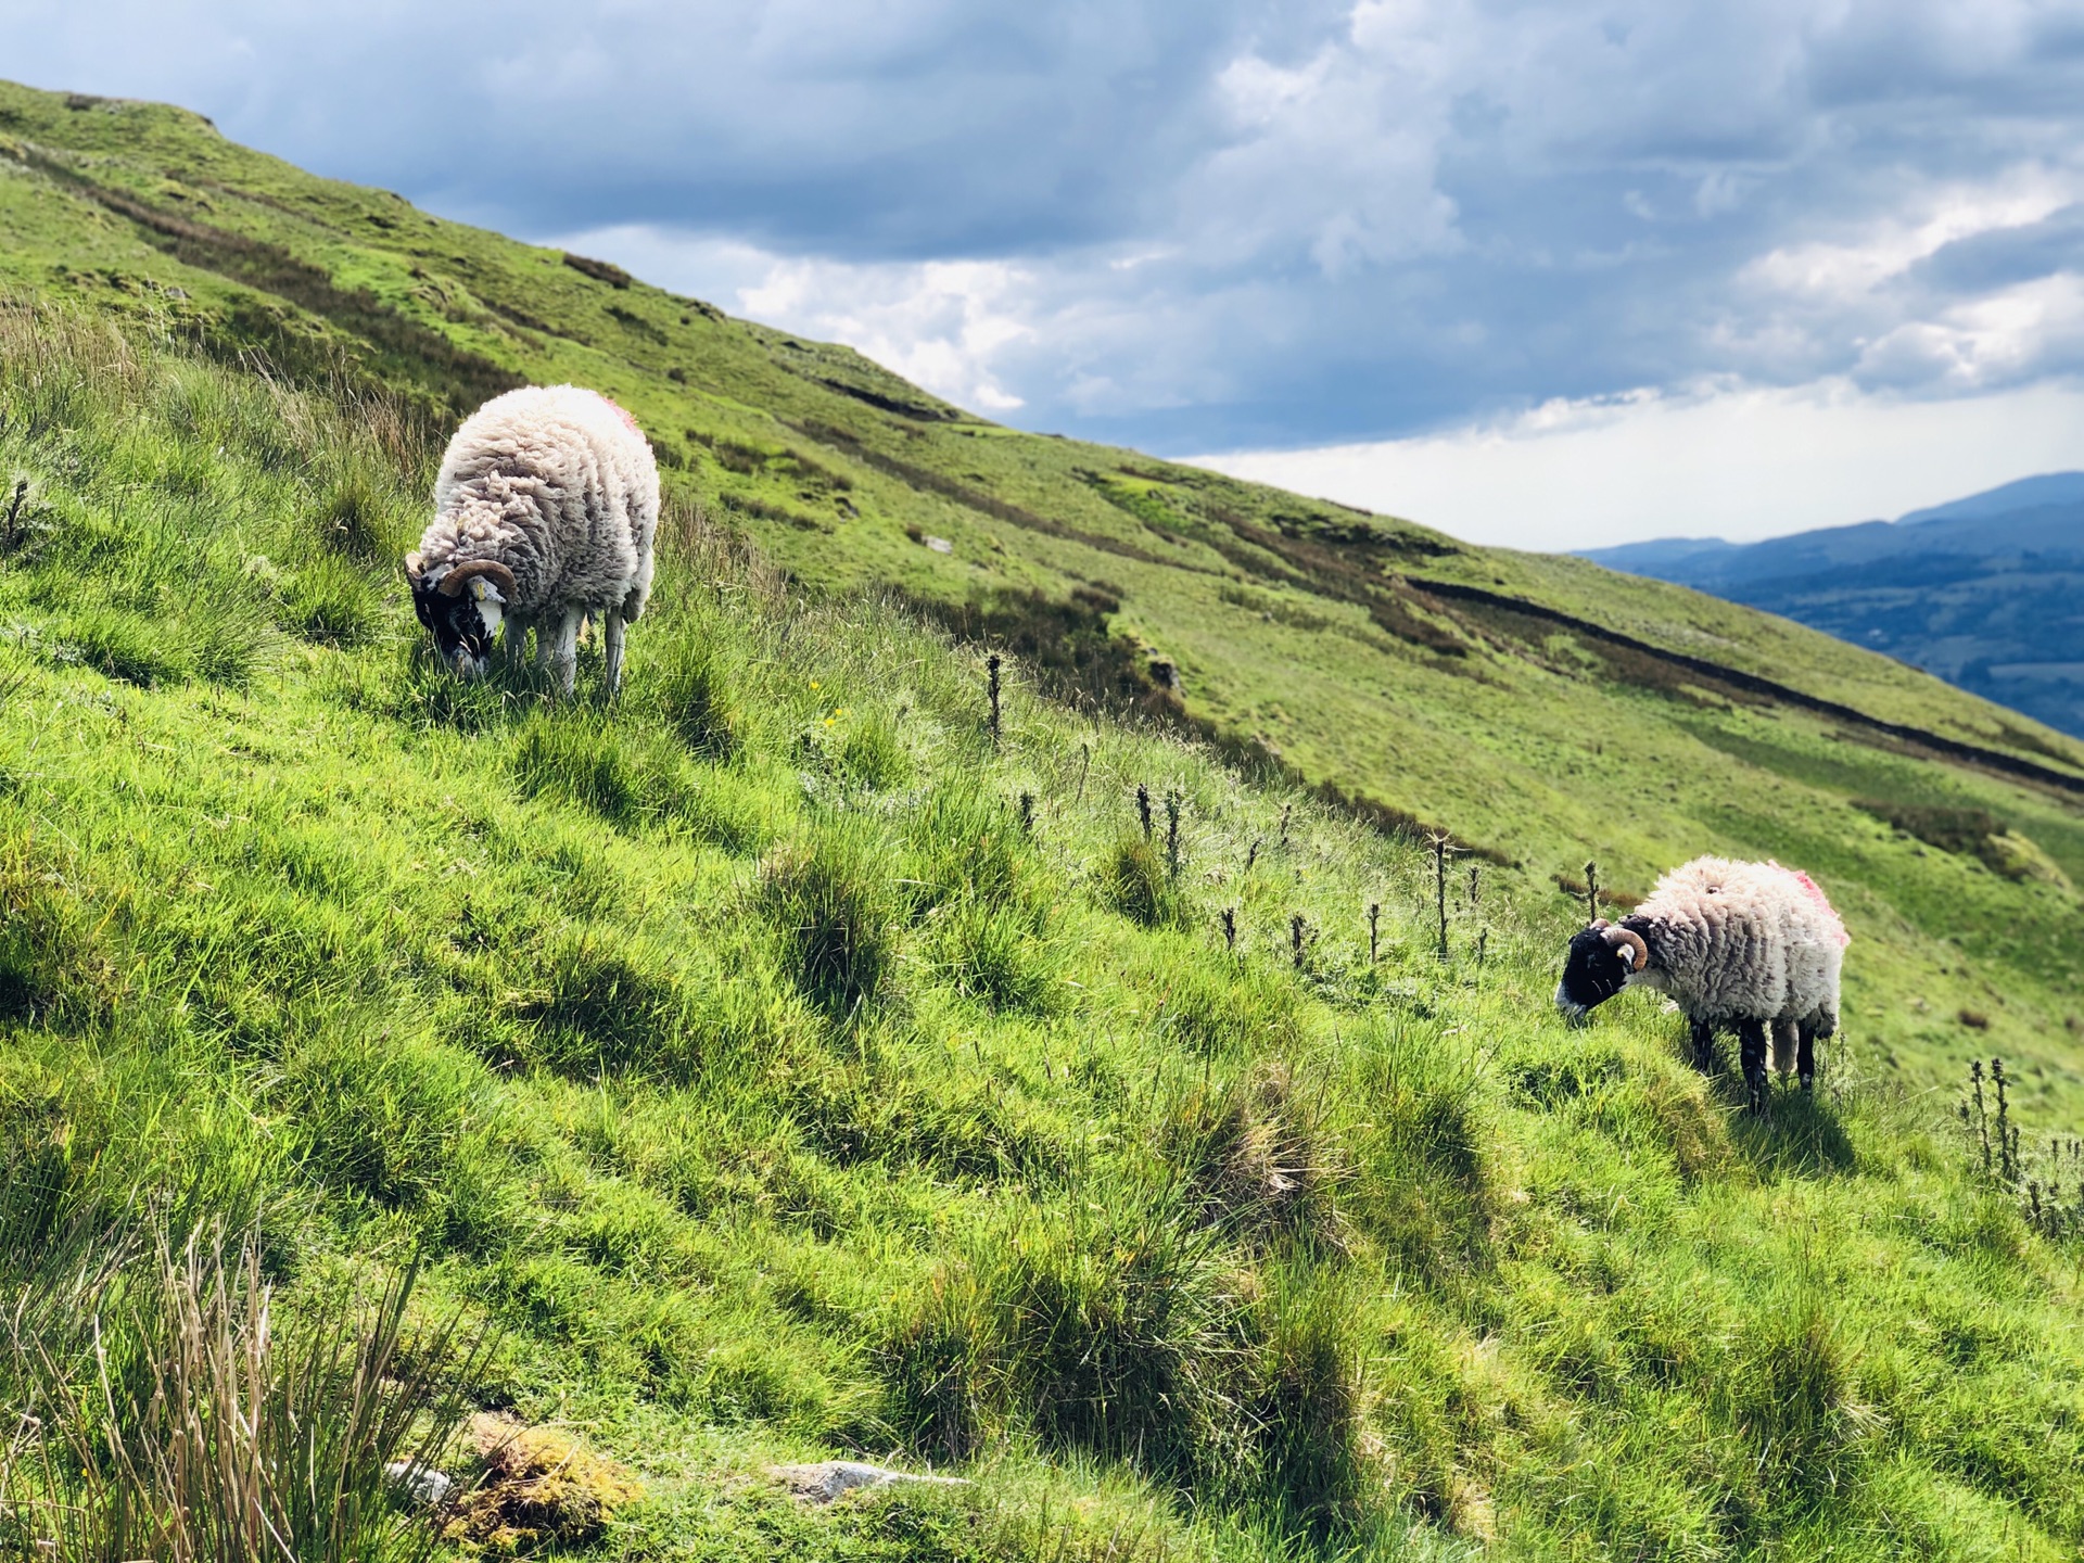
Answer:
[(1807, 873), (1698, 857), (1619, 923), (1598, 919), (1569, 942), (1557, 1009), (1580, 1019), (1621, 988), (1655, 988), (1692, 1023), (1701, 1069), (1713, 1067), (1715, 1027), (1736, 1027), (1751, 1111), (1763, 1113), (1767, 1034), (1771, 1067), (1815, 1084), (1815, 1040), (1838, 1029), (1846, 942)]

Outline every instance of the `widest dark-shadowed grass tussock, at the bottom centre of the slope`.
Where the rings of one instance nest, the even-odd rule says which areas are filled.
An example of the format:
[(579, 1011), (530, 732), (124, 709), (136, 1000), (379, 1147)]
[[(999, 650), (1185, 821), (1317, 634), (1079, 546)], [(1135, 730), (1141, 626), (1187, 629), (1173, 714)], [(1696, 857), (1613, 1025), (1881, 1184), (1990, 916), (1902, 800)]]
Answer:
[(1350, 1298), (1263, 1284), (1163, 1188), (1123, 1194), (1019, 1213), (936, 1273), (884, 1344), (900, 1434), (961, 1459), (1015, 1430), (1205, 1503), (1350, 1521), (1371, 1486)]

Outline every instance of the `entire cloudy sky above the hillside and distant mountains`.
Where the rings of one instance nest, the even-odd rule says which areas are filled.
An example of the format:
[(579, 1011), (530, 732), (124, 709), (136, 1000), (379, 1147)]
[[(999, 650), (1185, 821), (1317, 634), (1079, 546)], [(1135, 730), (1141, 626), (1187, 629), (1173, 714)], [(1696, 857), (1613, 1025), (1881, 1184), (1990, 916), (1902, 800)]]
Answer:
[(2084, 467), (2084, 0), (0, 0), (0, 73), (1467, 538)]

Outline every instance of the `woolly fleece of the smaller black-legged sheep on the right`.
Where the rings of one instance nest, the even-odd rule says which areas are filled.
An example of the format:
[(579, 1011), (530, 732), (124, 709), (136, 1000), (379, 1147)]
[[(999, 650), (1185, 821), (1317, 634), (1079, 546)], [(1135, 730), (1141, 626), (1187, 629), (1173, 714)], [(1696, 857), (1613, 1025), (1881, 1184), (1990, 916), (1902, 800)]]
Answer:
[(1849, 940), (1807, 873), (1698, 857), (1657, 882), (1628, 921), (1638, 919), (1651, 925), (1653, 957), (1632, 982), (1694, 1019), (1836, 1021)]

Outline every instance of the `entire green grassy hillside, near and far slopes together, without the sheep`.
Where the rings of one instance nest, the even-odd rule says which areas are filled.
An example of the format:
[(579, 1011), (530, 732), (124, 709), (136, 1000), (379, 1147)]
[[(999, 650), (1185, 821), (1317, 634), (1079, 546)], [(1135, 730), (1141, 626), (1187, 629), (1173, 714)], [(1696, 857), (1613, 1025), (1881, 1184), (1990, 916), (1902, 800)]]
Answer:
[[(0, 90), (0, 1555), (181, 1555), (154, 1515), (238, 1463), (173, 1453), (248, 1421), (352, 1498), (306, 1557), (423, 1555), (375, 1471), (458, 1425), (554, 1453), (534, 1507), (442, 1455), (513, 1498), (458, 1515), (492, 1550), (2084, 1544), (2067, 740), (998, 429), (177, 110)], [(444, 419), (511, 377), (667, 452), (613, 711), (413, 634)], [(921, 609), (1023, 648), (998, 742)], [(1488, 854), (1440, 896), (1384, 809)], [(1763, 1125), (1653, 1002), (1548, 1007), (1555, 879), (1703, 848), (1855, 934), (1826, 1090)], [(1955, 1119), (1971, 1055), (2017, 1177)], [(169, 1425), (165, 1382), (244, 1403), (263, 1286), (269, 1411)], [(490, 1363), (415, 1336), (450, 1319)], [(383, 1415), (298, 1442), (340, 1403)], [(769, 1475), (827, 1455), (969, 1484)]]

